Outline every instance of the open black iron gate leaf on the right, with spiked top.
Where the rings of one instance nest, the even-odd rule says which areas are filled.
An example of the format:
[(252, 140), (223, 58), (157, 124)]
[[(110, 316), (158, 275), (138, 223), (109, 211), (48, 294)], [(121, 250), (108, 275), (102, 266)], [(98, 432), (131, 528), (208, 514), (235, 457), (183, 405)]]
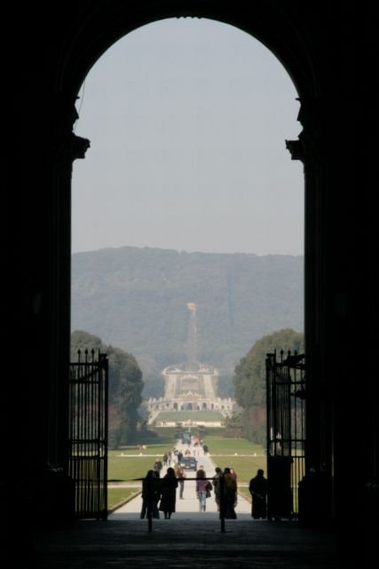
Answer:
[(266, 356), (269, 518), (298, 514), (298, 484), (305, 474), (304, 354), (283, 356)]

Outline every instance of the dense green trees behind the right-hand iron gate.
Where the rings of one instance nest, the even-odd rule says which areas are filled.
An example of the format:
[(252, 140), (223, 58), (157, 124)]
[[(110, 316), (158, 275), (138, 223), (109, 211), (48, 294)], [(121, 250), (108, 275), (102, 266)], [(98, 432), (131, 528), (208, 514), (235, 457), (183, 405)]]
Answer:
[(263, 336), (240, 360), (234, 370), (234, 397), (242, 408), (243, 432), (250, 440), (265, 442), (265, 360), (266, 354), (304, 352), (304, 334), (283, 328)]

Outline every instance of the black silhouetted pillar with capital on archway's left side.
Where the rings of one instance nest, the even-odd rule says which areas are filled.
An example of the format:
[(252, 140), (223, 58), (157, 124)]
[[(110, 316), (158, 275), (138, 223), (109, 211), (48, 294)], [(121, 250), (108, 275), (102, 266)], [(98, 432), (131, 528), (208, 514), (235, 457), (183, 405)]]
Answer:
[[(46, 437), (45, 461), (63, 470), (68, 469), (68, 364), (70, 358), (71, 312), (71, 179), (73, 162), (83, 158), (90, 146), (86, 138), (77, 137), (73, 125), (77, 119), (73, 101), (57, 95), (51, 101), (53, 111), (52, 139), (49, 153), (44, 156), (43, 193), (45, 195), (43, 272), (49, 282), (49, 295), (43, 295), (41, 312), (47, 336), (43, 343), (46, 360), (43, 365), (48, 389), (42, 414), (43, 436)], [(49, 221), (51, 220), (51, 221)], [(54, 480), (50, 477), (51, 485)], [(69, 480), (67, 479), (67, 484)], [(57, 488), (59, 486), (57, 485)], [(54, 492), (54, 488), (51, 489)], [(58, 492), (58, 490), (57, 490)], [(59, 491), (57, 502), (64, 495)], [(62, 512), (67, 505), (61, 503)], [(52, 515), (52, 512), (51, 512)], [(59, 518), (59, 506), (54, 506), (54, 518)]]

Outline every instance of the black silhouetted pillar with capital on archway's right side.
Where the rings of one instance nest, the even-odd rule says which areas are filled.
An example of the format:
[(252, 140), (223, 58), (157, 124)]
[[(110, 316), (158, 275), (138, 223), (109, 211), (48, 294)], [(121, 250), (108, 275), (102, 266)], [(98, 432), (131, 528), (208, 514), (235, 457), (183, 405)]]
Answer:
[[(305, 467), (327, 470), (331, 485), (331, 406), (325, 385), (326, 321), (325, 283), (325, 218), (327, 160), (325, 156), (325, 119), (319, 98), (300, 99), (298, 121), (303, 126), (297, 140), (286, 140), (292, 160), (304, 164), (304, 336), (306, 357), (306, 442)], [(328, 486), (328, 485), (327, 485)], [(324, 504), (316, 507), (331, 516), (330, 495), (325, 492)], [(314, 515), (318, 515), (314, 512)]]

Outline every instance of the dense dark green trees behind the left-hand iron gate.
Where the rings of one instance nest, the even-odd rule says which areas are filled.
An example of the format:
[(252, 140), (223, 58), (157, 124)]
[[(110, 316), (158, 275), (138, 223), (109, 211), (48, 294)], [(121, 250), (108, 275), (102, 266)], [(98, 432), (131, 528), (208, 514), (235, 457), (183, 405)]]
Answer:
[[(109, 444), (118, 447), (129, 443), (135, 435), (139, 420), (138, 407), (142, 402), (142, 372), (137, 360), (120, 348), (106, 345), (98, 336), (83, 330), (71, 334), (71, 360), (77, 352), (106, 353), (109, 361)], [(83, 357), (83, 356), (82, 356)]]

